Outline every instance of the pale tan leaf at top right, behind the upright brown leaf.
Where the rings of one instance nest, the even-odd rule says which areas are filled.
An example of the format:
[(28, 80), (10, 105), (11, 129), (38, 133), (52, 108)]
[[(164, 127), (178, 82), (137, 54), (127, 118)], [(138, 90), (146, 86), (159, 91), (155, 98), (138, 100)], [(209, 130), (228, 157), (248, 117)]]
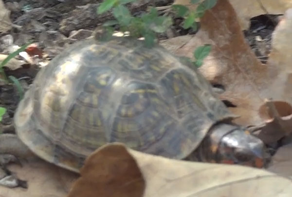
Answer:
[[(250, 19), (263, 14), (284, 14), (292, 7), (291, 0), (229, 0), (234, 7), (241, 30), (248, 29)], [(190, 10), (197, 8), (190, 0), (175, 0), (173, 4), (186, 5)]]

